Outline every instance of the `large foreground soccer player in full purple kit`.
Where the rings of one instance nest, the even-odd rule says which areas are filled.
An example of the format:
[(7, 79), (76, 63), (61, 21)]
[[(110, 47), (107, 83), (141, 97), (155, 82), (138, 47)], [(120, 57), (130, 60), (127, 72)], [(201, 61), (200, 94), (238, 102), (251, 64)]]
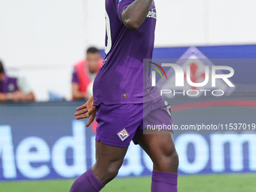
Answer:
[(178, 154), (172, 132), (143, 134), (147, 124), (172, 124), (169, 104), (151, 87), (150, 67), (143, 70), (143, 59), (151, 58), (154, 48), (154, 1), (106, 0), (105, 9), (105, 60), (93, 96), (75, 113), (77, 119), (89, 117), (87, 126), (96, 117), (96, 163), (70, 192), (101, 190), (117, 175), (132, 140), (154, 163), (151, 191), (176, 192)]

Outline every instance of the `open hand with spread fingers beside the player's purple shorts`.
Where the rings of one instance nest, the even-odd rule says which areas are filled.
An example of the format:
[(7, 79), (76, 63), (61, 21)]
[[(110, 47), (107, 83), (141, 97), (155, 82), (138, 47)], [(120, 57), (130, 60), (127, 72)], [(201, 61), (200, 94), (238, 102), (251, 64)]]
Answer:
[(90, 117), (88, 120), (86, 126), (90, 126), (90, 123), (93, 123), (93, 120), (96, 117), (96, 107), (93, 106), (93, 96), (90, 97), (90, 99), (80, 107), (76, 108), (78, 112), (75, 113), (75, 116), (77, 120), (84, 119)]

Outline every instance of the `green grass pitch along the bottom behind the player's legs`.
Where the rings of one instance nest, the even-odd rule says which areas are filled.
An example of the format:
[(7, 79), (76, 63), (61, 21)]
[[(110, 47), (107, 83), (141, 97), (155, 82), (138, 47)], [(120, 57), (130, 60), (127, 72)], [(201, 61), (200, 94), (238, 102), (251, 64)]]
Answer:
[[(2, 192), (69, 192), (74, 180), (0, 182)], [(150, 192), (151, 178), (117, 178), (102, 192)], [(256, 191), (256, 174), (189, 175), (178, 178), (179, 192), (252, 192)]]

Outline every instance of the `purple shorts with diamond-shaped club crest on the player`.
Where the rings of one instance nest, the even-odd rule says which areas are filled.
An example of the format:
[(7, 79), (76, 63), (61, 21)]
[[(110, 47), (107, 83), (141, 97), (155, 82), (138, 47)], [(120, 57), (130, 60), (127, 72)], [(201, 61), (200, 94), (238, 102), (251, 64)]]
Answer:
[(141, 104), (96, 106), (96, 142), (128, 147), (133, 140), (138, 144), (143, 129), (157, 125), (172, 126), (171, 107), (163, 97)]

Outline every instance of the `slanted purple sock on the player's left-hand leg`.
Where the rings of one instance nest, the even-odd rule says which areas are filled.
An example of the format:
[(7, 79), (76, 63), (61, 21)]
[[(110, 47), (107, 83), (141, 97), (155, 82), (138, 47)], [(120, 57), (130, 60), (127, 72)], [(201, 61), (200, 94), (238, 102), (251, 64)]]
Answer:
[(84, 172), (83, 175), (75, 179), (69, 192), (98, 192), (103, 187), (105, 187), (105, 185), (96, 178), (92, 169), (89, 169), (87, 172)]

